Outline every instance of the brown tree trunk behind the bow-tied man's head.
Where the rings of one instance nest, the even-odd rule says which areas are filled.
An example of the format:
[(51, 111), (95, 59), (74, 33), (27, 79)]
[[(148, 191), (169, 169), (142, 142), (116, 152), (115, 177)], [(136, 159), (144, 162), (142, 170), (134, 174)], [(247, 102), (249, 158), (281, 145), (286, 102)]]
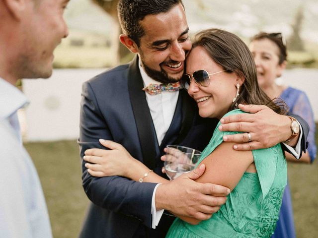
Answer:
[(118, 16), (117, 16), (117, 3), (119, 0), (92, 0), (98, 6), (100, 6), (105, 12), (107, 12), (114, 21), (114, 34), (112, 39), (112, 46), (117, 49), (117, 59), (115, 64), (119, 62), (128, 62), (132, 59), (132, 53), (119, 42), (119, 35), (122, 33)]

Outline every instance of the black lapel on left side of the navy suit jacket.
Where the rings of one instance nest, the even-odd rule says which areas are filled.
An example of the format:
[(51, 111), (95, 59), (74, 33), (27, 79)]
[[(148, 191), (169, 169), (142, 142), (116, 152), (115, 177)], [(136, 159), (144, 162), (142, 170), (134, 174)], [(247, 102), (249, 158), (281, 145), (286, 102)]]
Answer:
[(136, 56), (129, 65), (128, 90), (139, 134), (143, 162), (148, 168), (154, 169), (156, 135), (153, 132), (153, 119), (146, 101), (145, 92), (142, 90), (143, 87), (144, 84), (138, 67), (138, 57)]

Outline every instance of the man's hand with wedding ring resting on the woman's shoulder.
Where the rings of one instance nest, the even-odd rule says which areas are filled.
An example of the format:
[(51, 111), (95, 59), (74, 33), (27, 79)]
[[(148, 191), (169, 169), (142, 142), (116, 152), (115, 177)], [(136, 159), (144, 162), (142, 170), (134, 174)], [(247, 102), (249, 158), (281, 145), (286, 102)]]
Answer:
[[(291, 136), (291, 120), (279, 115), (263, 105), (239, 105), (239, 109), (249, 114), (237, 114), (221, 119), (221, 131), (241, 131), (223, 137), (227, 142), (239, 142), (235, 150), (256, 150), (272, 147), (286, 141)], [(248, 133), (251, 140), (249, 141)]]

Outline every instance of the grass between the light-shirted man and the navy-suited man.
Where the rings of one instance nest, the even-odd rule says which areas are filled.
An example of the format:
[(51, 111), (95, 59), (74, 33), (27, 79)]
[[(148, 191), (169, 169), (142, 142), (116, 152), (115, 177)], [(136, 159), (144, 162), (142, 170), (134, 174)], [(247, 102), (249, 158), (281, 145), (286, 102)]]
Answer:
[(44, 190), (54, 238), (77, 238), (88, 198), (76, 141), (27, 143)]

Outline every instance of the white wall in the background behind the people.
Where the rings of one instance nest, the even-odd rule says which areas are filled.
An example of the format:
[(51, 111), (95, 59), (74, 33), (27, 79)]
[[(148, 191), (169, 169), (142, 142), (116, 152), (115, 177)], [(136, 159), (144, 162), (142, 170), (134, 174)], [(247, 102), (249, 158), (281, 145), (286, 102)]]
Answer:
[[(25, 112), (25, 139), (49, 141), (79, 136), (81, 84), (105, 69), (56, 69), (50, 79), (23, 80), (30, 101)], [(318, 121), (318, 70), (285, 70), (284, 82), (307, 93)]]

